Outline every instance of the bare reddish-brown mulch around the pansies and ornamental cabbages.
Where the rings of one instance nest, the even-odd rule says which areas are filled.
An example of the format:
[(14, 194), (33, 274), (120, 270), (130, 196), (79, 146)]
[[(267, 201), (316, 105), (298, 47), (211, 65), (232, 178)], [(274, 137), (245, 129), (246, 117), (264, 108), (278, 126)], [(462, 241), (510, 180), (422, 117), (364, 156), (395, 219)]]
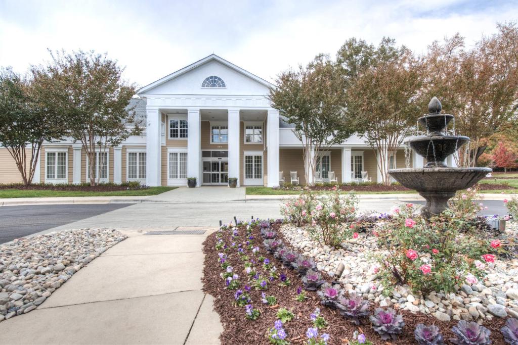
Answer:
[[(274, 230), (278, 230), (278, 225), (272, 226)], [(239, 240), (236, 242), (244, 242), (243, 234), (246, 233), (244, 228), (239, 230)], [(282, 263), (277, 261), (271, 254), (269, 254), (262, 244), (263, 238), (261, 237), (258, 228), (255, 228), (252, 232), (255, 239), (253, 244), (260, 248), (257, 255), (269, 258), (279, 269), (279, 273), (284, 273), (290, 278), (292, 284), (290, 287), (280, 287), (278, 280), (268, 283), (268, 290), (265, 290), (267, 295), (274, 295), (277, 298), (277, 306), (267, 307), (261, 303), (261, 292), (252, 288), (249, 292), (252, 299), (252, 305), (254, 308), (261, 310), (261, 316), (255, 320), (246, 320), (244, 307), (237, 307), (234, 305), (234, 293), (235, 290), (225, 289), (225, 283), (220, 277), (220, 273), (223, 272), (218, 262), (218, 250), (214, 248), (217, 242), (216, 233), (213, 233), (207, 237), (203, 243), (203, 251), (205, 254), (205, 262), (203, 269), (203, 284), (204, 291), (214, 296), (214, 309), (220, 314), (221, 322), (223, 323), (224, 331), (220, 335), (222, 344), (268, 344), (267, 333), (270, 328), (274, 326), (274, 322), (277, 319), (277, 309), (284, 307), (291, 309), (295, 314), (295, 318), (284, 324), (284, 329), (287, 333), (287, 340), (292, 344), (303, 344), (306, 343), (306, 331), (308, 327), (312, 327), (313, 324), (309, 319), (310, 314), (316, 307), (321, 309), (321, 315), (328, 322), (326, 329), (319, 330), (319, 335), (322, 333), (328, 333), (330, 335), (329, 344), (347, 344), (348, 339), (352, 339), (354, 331), (364, 333), (367, 339), (375, 344), (414, 344), (416, 343), (413, 336), (415, 326), (419, 323), (424, 324), (435, 324), (441, 329), (441, 333), (444, 339), (453, 337), (453, 333), (450, 329), (457, 324), (457, 321), (452, 322), (441, 322), (435, 317), (417, 313), (413, 314), (409, 311), (400, 311), (405, 320), (404, 334), (399, 336), (398, 340), (383, 341), (379, 338), (378, 334), (371, 328), (368, 319), (362, 319), (362, 324), (356, 326), (346, 319), (343, 319), (340, 314), (332, 309), (324, 307), (320, 304), (319, 298), (316, 292), (306, 291), (306, 295), (309, 297), (305, 302), (297, 302), (294, 298), (296, 296), (297, 287), (302, 286), (300, 277), (295, 271), (282, 267)], [(282, 239), (282, 234), (278, 231), (278, 236)], [(223, 239), (225, 243), (230, 244), (231, 233), (230, 231), (224, 232)], [(285, 244), (286, 241), (283, 241)], [(235, 250), (235, 251), (234, 251)], [(237, 249), (230, 248), (227, 252), (228, 260), (231, 266), (234, 267), (234, 272), (240, 277), (241, 287), (244, 287), (244, 280), (247, 278), (244, 272), (244, 262), (239, 259)], [(247, 251), (250, 259), (256, 258), (252, 253)], [(329, 277), (324, 277), (330, 281)], [(243, 289), (244, 291), (244, 289)], [(375, 309), (375, 305), (371, 305), (371, 310)], [(505, 344), (503, 337), (499, 331), (500, 327), (505, 323), (505, 319), (495, 318), (492, 322), (485, 322), (484, 326), (489, 328), (491, 331), (491, 339), (493, 344)]]

